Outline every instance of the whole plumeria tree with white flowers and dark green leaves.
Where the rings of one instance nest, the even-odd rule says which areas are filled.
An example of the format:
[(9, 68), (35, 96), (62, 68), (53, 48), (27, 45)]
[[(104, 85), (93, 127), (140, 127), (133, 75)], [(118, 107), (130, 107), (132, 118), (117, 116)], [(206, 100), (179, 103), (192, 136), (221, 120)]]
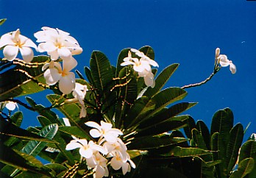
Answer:
[[(1, 177), (255, 177), (255, 135), (242, 145), (243, 126), (233, 127), (229, 108), (213, 115), (210, 131), (182, 115), (196, 105), (180, 102), (185, 88), (222, 67), (235, 74), (220, 49), (207, 79), (163, 89), (179, 64), (157, 74), (150, 46), (123, 49), (116, 65), (93, 51), (76, 75), (82, 47), (75, 38), (50, 27), (34, 36), (38, 45), (20, 29), (0, 38), (0, 146), (8, 153), (0, 154)], [(29, 97), (42, 90), (51, 90), (51, 105)], [(37, 112), (40, 126), (22, 129), (21, 108)]]

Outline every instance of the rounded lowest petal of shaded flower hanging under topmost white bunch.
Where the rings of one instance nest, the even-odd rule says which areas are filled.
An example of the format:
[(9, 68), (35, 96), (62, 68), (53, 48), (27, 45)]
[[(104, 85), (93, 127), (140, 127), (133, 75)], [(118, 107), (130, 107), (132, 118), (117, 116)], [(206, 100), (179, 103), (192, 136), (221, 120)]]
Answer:
[(74, 77), (71, 75), (62, 76), (59, 82), (59, 89), (63, 94), (69, 94), (74, 90)]

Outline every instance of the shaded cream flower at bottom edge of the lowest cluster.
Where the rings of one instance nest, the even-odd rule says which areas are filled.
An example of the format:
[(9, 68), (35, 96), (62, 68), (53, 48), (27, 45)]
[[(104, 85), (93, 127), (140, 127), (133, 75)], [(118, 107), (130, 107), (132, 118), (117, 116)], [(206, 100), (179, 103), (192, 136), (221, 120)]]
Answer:
[(88, 167), (94, 168), (93, 177), (102, 178), (108, 177), (109, 172), (107, 169), (107, 159), (99, 154), (99, 152), (94, 152), (93, 156), (86, 159), (86, 163)]

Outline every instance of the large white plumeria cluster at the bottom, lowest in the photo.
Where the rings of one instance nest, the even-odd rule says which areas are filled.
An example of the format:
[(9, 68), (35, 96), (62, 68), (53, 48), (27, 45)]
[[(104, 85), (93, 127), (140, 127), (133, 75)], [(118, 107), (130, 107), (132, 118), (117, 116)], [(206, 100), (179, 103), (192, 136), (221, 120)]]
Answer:
[(74, 138), (67, 144), (66, 149), (78, 149), (79, 154), (85, 158), (89, 168), (93, 168), (93, 177), (107, 177), (109, 171), (107, 165), (110, 165), (114, 170), (121, 168), (125, 175), (131, 171), (131, 167), (135, 168), (135, 163), (127, 153), (127, 146), (118, 138), (123, 135), (121, 130), (112, 128), (112, 124), (101, 121), (101, 125), (93, 121), (85, 123), (90, 129), (90, 135), (93, 138), (99, 138), (97, 143), (93, 140)]

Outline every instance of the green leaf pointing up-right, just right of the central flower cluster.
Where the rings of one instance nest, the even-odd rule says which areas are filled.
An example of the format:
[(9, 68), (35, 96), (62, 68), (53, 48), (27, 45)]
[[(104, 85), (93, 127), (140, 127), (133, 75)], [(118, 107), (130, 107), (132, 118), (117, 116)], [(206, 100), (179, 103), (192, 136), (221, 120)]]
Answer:
[(164, 68), (163, 71), (157, 76), (157, 79), (155, 79), (155, 86), (154, 88), (148, 88), (145, 92), (145, 96), (154, 96), (157, 92), (159, 92), (163, 86), (168, 82), (168, 79), (170, 79), (171, 75), (174, 74), (174, 71), (178, 68), (179, 64), (172, 64), (168, 65), (168, 67)]

